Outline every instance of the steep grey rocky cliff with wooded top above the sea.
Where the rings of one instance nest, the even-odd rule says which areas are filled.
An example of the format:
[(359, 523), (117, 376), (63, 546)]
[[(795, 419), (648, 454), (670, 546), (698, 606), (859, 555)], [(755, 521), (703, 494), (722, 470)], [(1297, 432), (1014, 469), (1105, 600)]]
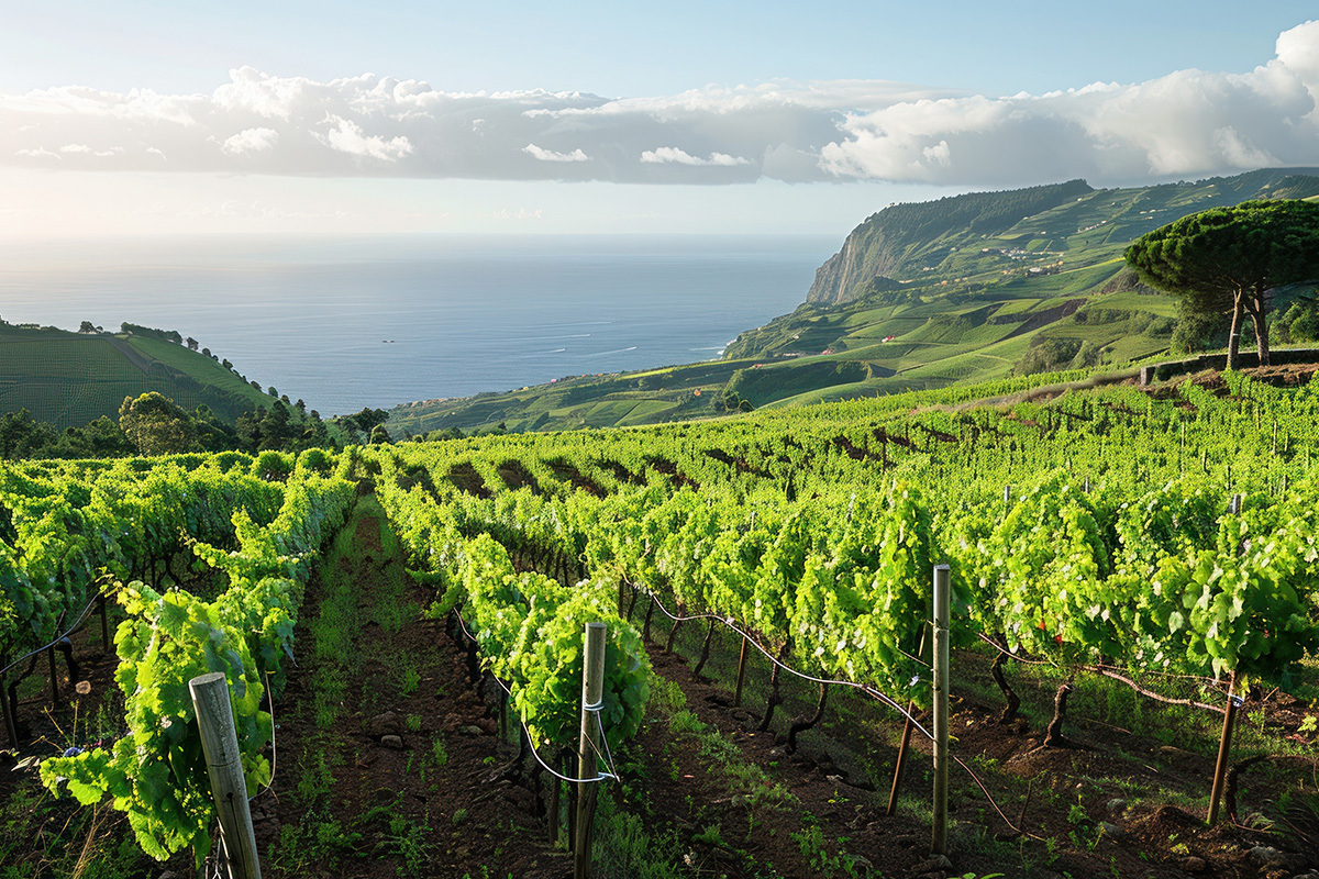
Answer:
[(1086, 181), (1070, 181), (886, 207), (852, 229), (843, 249), (816, 269), (806, 302), (849, 302), (863, 295), (877, 275), (913, 277), (921, 265), (950, 246), (969, 242), (981, 233), (1002, 232), (1024, 217), (1093, 191)]

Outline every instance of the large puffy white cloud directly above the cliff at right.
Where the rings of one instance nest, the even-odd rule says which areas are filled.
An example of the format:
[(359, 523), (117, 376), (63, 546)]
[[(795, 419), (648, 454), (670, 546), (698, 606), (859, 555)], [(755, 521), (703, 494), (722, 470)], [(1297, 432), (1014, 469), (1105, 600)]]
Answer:
[(1182, 70), (1144, 83), (1010, 98), (905, 101), (849, 115), (820, 152), (839, 177), (984, 183), (1138, 179), (1319, 165), (1319, 22), (1245, 74)]

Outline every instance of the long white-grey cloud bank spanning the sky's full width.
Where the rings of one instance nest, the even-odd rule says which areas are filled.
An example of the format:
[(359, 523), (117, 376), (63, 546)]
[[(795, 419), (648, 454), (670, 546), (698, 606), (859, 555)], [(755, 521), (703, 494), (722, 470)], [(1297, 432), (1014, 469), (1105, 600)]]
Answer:
[(233, 70), (211, 95), (0, 95), (0, 163), (311, 177), (944, 186), (1319, 165), (1319, 21), (1248, 72), (987, 96), (880, 80), (679, 95), (445, 92)]

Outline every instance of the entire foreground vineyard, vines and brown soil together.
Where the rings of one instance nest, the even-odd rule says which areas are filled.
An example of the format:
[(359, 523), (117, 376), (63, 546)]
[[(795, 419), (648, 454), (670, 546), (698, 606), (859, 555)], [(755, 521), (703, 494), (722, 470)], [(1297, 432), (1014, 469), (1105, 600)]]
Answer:
[[(1312, 383), (1058, 374), (642, 430), (5, 464), (21, 746), (0, 795), (33, 836), (8, 834), (0, 875), (161, 870), (132, 846), (210, 863), (207, 672), (266, 875), (561, 876), (582, 839), (611, 876), (1307, 875), (1316, 434)], [(574, 796), (598, 797), (594, 837)], [(87, 853), (137, 866), (84, 872)]]

